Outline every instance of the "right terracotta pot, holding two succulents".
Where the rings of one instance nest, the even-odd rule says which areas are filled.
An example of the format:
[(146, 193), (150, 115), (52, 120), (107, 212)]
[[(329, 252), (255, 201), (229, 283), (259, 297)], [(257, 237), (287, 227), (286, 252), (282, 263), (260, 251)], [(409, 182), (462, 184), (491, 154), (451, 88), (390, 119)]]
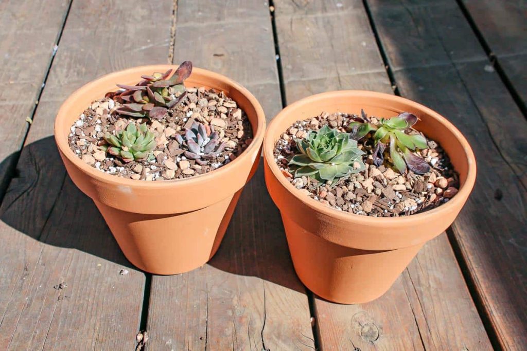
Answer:
[[(392, 117), (416, 114), (419, 131), (438, 141), (460, 173), (461, 188), (449, 202), (406, 217), (375, 218), (342, 212), (302, 194), (274, 161), (277, 139), (295, 121), (323, 111)], [(280, 209), (287, 242), (300, 280), (333, 302), (365, 303), (383, 295), (427, 240), (452, 224), (476, 178), (469, 143), (444, 117), (402, 97), (365, 91), (313, 95), (290, 105), (269, 124), (264, 141), (265, 179)]]

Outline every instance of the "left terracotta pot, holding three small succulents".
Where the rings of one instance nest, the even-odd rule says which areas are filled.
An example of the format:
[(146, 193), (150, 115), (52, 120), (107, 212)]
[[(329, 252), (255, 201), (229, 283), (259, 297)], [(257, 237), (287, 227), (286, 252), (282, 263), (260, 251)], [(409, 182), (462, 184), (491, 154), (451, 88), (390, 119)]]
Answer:
[(135, 84), (141, 75), (168, 68), (177, 66), (135, 67), (96, 79), (73, 93), (55, 120), (55, 141), (73, 182), (93, 199), (126, 258), (155, 274), (188, 272), (216, 253), (241, 189), (258, 167), (265, 132), (264, 111), (247, 89), (194, 68), (185, 85), (223, 91), (249, 117), (253, 141), (234, 161), (192, 178), (147, 182), (104, 174), (74, 155), (67, 135), (86, 106), (115, 89), (116, 83)]

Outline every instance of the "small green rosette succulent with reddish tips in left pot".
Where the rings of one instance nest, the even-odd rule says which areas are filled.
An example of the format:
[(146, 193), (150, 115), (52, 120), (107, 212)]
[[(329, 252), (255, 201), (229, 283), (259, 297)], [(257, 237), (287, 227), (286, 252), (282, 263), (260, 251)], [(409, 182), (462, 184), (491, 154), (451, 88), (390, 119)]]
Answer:
[(106, 133), (105, 141), (108, 143), (105, 149), (111, 155), (120, 157), (124, 162), (151, 159), (155, 148), (154, 134), (143, 123), (137, 126), (130, 122), (125, 129), (116, 132), (115, 135)]

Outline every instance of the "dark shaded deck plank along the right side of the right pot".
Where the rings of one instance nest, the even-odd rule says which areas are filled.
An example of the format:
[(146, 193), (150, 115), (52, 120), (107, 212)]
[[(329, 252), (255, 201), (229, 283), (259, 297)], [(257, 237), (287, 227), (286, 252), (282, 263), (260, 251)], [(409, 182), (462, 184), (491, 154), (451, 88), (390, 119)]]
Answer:
[[(376, 4), (375, 1), (372, 1)], [(377, 31), (386, 47), (389, 62), (409, 55), (412, 42), (463, 42), (470, 52), (474, 34), (455, 4), (431, 6), (373, 6)], [(457, 8), (461, 12), (461, 9)], [(453, 18), (458, 18), (455, 24)], [(450, 35), (445, 21), (455, 25)], [(426, 22), (426, 27), (418, 24)], [(414, 38), (408, 33), (416, 34)], [(394, 46), (395, 37), (405, 36), (404, 45)], [(428, 44), (436, 45), (436, 44)], [(389, 47), (391, 46), (391, 47)], [(398, 50), (407, 51), (396, 53)], [(480, 47), (480, 51), (483, 50)], [(474, 281), (485, 318), (504, 349), (527, 344), (527, 244), (525, 243), (525, 153), (527, 122), (506, 87), (494, 72), (485, 71), (486, 59), (457, 57), (450, 63), (431, 66), (426, 53), (413, 51), (421, 67), (404, 64), (395, 73), (403, 96), (421, 102), (452, 121), (471, 143), (477, 159), (474, 191), (452, 226), (453, 237)]]

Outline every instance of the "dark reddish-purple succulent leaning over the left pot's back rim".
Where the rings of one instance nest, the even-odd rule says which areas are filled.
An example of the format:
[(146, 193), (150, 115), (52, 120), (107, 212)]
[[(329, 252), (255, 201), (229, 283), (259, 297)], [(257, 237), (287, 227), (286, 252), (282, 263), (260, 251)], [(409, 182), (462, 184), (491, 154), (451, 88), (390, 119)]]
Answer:
[(107, 93), (106, 97), (123, 104), (114, 110), (115, 114), (161, 118), (187, 94), (183, 81), (191, 72), (192, 63), (185, 61), (170, 78), (172, 69), (165, 73), (154, 72), (151, 76), (141, 76), (143, 80), (136, 85), (118, 84), (117, 86), (123, 90)]

